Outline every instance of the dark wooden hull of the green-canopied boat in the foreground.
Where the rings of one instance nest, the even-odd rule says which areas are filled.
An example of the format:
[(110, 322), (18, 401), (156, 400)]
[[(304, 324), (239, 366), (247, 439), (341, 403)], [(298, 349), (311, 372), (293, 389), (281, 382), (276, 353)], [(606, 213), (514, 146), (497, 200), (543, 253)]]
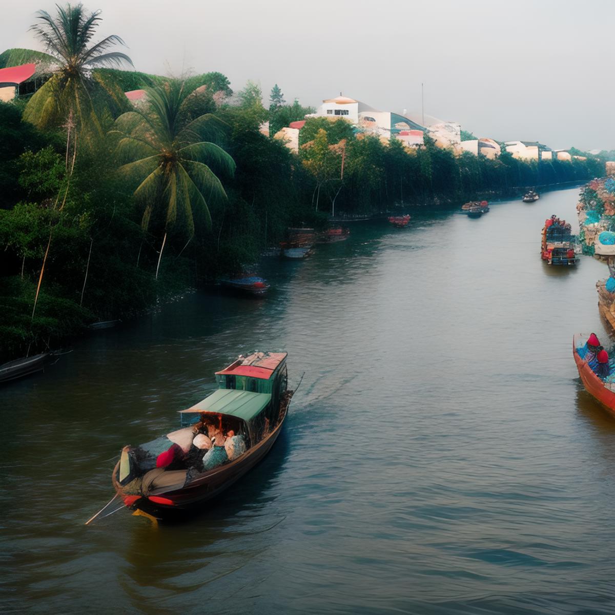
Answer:
[[(290, 397), (292, 397), (292, 392)], [(284, 421), (288, 414), (288, 405), (290, 405), (290, 397), (288, 403), (282, 408), (280, 420), (276, 428), (256, 444), (250, 450), (246, 451), (240, 458), (231, 461), (224, 466), (218, 466), (209, 472), (206, 472), (201, 477), (183, 486), (181, 489), (173, 491), (155, 490), (147, 497), (142, 496), (137, 501), (127, 504), (133, 510), (143, 510), (148, 515), (153, 517), (173, 518), (181, 515), (189, 514), (190, 512), (199, 512), (200, 507), (205, 502), (215, 498), (228, 489), (231, 485), (242, 478), (247, 472), (252, 470), (264, 457), (269, 453), (274, 443), (284, 427)], [(122, 493), (121, 485), (117, 482), (117, 472), (119, 470), (119, 461), (113, 469), (112, 481), (113, 487), (117, 495), (124, 499), (125, 494)], [(164, 498), (169, 501), (169, 504), (161, 504), (149, 499), (151, 496), (156, 498)], [(124, 500), (125, 501), (125, 500)]]

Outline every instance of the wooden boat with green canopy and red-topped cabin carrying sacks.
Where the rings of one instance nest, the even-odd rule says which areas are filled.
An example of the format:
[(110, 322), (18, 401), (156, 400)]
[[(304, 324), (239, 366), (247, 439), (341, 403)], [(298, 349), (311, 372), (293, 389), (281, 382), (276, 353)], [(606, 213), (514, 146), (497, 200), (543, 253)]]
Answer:
[[(286, 352), (239, 357), (216, 372), (218, 389), (212, 395), (180, 411), (181, 429), (135, 448), (125, 446), (112, 475), (125, 506), (157, 518), (194, 510), (261, 461), (282, 431), (294, 392), (288, 390), (286, 357)], [(193, 439), (195, 434), (204, 438), (205, 426), (207, 434), (215, 430), (216, 446), (199, 461), (204, 451)], [(236, 434), (232, 437), (231, 429)], [(217, 445), (218, 438), (224, 446)], [(240, 438), (244, 446), (237, 456), (224, 458), (231, 438)], [(208, 466), (212, 451), (224, 458), (213, 467)], [(172, 464), (164, 466), (169, 454), (183, 458), (174, 457)]]

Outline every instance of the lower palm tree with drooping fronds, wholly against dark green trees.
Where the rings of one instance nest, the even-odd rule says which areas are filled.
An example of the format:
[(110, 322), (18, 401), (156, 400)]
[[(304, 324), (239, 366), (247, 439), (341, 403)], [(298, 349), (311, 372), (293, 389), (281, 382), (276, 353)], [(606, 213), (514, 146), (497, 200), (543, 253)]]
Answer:
[(196, 119), (186, 114), (184, 103), (194, 87), (194, 84), (172, 79), (146, 89), (147, 106), (122, 114), (111, 131), (119, 137), (120, 159), (127, 161), (120, 172), (138, 183), (134, 196), (145, 203), (141, 221), (144, 231), (154, 208), (166, 210), (156, 279), (167, 231), (175, 224), (178, 212), (183, 216), (190, 240), (194, 236), (193, 208), (196, 206), (204, 213), (207, 226), (210, 226), (207, 200), (212, 197), (226, 199), (220, 180), (208, 164), (213, 163), (216, 170), (228, 175), (235, 171), (231, 156), (207, 140), (220, 132), (222, 122), (212, 114)]

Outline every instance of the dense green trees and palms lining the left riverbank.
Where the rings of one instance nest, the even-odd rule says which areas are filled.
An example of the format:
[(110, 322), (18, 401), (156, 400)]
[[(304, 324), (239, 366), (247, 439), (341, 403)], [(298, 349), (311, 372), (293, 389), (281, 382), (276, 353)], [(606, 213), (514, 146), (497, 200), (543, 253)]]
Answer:
[(239, 272), (288, 226), (602, 174), (595, 159), (408, 149), (315, 117), (295, 154), (261, 125), (272, 135), (313, 109), (277, 86), (265, 108), (258, 85), (234, 93), (215, 71), (119, 69), (121, 39), (88, 46), (99, 21), (81, 5), (41, 12), (46, 53), (0, 55), (55, 67), (30, 98), (0, 103), (0, 360)]

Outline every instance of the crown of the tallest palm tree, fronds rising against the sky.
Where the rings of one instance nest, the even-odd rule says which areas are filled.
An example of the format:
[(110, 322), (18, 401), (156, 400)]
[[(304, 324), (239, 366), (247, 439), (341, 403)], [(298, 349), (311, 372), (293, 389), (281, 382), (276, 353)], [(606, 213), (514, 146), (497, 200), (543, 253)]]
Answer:
[(77, 131), (93, 126), (100, 133), (98, 98), (114, 103), (120, 111), (127, 101), (117, 87), (92, 74), (92, 69), (132, 66), (132, 60), (121, 52), (109, 51), (116, 44), (124, 45), (115, 34), (90, 46), (101, 20), (100, 10), (89, 13), (82, 4), (56, 6), (56, 17), (39, 10), (38, 23), (30, 28), (46, 47), (53, 75), (30, 98), (23, 116), (41, 128), (66, 122), (69, 132), (73, 126)]

